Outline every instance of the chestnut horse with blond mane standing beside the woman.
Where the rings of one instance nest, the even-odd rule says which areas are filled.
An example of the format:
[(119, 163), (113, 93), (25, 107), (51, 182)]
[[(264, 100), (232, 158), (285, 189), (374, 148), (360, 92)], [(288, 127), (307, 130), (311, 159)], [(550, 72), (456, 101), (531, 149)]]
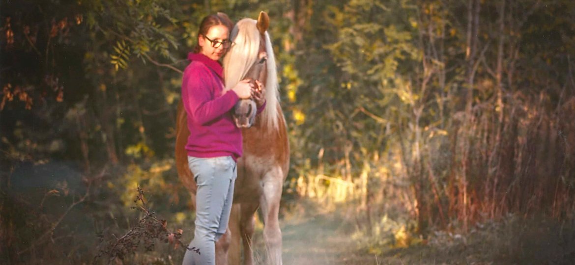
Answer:
[[(258, 20), (244, 18), (231, 32), (233, 45), (224, 57), (225, 91), (240, 80), (257, 79), (266, 87), (266, 106), (254, 114), (253, 100), (236, 104), (234, 118), (243, 135), (243, 156), (237, 161), (232, 212), (224, 236), (216, 242), (216, 264), (240, 264), (243, 243), (244, 264), (254, 263), (251, 248), (255, 212), (263, 216), (263, 239), (269, 264), (282, 264), (282, 234), (279, 202), (289, 170), (289, 143), (281, 106), (275, 57), (267, 33), (270, 19), (260, 12)], [(248, 118), (246, 118), (248, 117)], [(178, 177), (196, 205), (197, 186), (187, 164), (185, 145), (190, 132), (182, 102), (177, 111), (175, 160)]]

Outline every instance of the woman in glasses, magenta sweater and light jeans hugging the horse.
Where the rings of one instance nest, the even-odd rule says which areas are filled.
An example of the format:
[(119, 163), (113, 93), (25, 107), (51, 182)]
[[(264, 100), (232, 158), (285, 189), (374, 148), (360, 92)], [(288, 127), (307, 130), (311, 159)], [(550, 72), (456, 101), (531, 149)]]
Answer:
[(197, 184), (196, 231), (183, 264), (215, 264), (215, 242), (225, 233), (232, 207), (236, 161), (242, 154), (241, 130), (231, 110), (240, 99), (253, 97), (263, 110), (263, 86), (240, 81), (224, 92), (223, 69), (218, 60), (232, 42), (232, 22), (224, 13), (208, 15), (198, 31), (198, 44), (182, 79), (182, 100), (190, 137), (188, 165)]

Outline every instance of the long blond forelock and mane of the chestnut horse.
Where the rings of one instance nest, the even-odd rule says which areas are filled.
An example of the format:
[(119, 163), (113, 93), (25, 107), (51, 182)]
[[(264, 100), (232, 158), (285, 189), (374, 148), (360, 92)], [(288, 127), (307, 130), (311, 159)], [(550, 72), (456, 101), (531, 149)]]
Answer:
[[(246, 77), (248, 71), (258, 60), (260, 33), (256, 28), (256, 20), (244, 18), (233, 27), (230, 39), (235, 43), (224, 57), (225, 91), (234, 87)], [(274, 50), (271, 46), (270, 36), (265, 33), (267, 52), (267, 82), (266, 108), (260, 114), (264, 126), (278, 127), (279, 86), (277, 69), (275, 67)], [(231, 60), (233, 58), (233, 60)]]

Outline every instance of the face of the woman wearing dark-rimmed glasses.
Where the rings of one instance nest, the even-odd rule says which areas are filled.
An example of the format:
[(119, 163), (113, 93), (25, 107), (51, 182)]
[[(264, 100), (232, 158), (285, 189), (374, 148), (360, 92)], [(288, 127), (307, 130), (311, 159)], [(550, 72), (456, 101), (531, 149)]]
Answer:
[[(228, 51), (229, 48), (229, 30), (224, 25), (212, 26), (208, 33), (200, 34), (198, 45), (201, 46), (201, 52), (210, 59), (217, 61)], [(216, 48), (214, 48), (216, 46)]]

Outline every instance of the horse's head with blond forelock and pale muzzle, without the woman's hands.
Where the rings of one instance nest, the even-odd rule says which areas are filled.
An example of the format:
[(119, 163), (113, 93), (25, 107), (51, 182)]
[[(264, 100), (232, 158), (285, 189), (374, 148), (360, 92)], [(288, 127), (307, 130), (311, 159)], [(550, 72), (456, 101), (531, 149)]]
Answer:
[[(268, 53), (266, 30), (270, 18), (265, 12), (260, 12), (258, 21), (244, 18), (237, 22), (231, 33), (234, 45), (224, 59), (226, 88), (229, 89), (239, 80), (259, 80), (266, 85), (267, 93), (275, 87), (268, 87)], [(271, 46), (271, 45), (269, 45)], [(275, 62), (273, 62), (275, 64)], [(275, 67), (274, 67), (275, 69)], [(271, 91), (274, 92), (274, 91)], [(242, 99), (236, 103), (233, 119), (239, 128), (250, 128), (255, 122), (256, 104), (252, 99)]]

